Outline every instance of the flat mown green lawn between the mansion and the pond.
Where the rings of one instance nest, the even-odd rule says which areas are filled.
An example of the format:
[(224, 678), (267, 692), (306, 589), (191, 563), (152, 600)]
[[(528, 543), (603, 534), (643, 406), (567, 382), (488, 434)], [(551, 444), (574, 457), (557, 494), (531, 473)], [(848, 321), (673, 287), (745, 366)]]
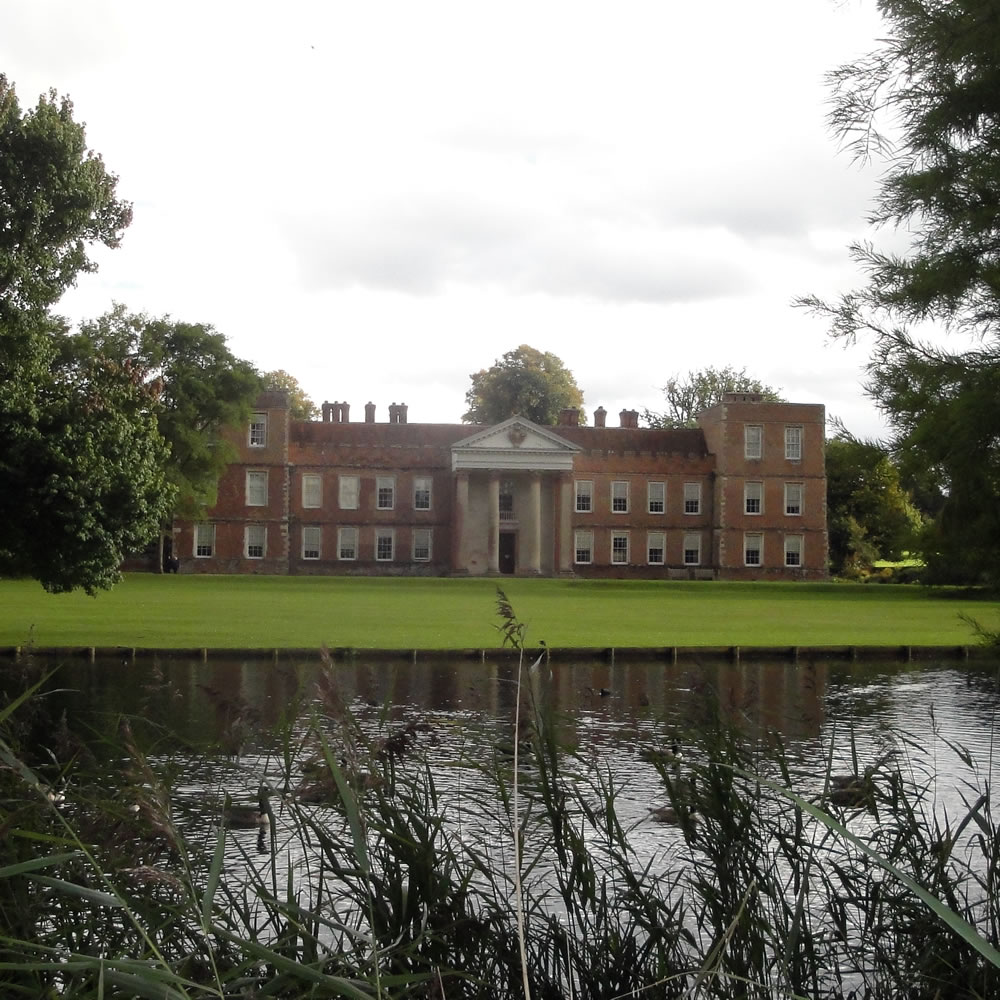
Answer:
[(0, 646), (491, 648), (497, 583), (529, 643), (608, 646), (955, 646), (995, 601), (848, 583), (455, 580), (132, 574), (109, 593), (0, 580)]

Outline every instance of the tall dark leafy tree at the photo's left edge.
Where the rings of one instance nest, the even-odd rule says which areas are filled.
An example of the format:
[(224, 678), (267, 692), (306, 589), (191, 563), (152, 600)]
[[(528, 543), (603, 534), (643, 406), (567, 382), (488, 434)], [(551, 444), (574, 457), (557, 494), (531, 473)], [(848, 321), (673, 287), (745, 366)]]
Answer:
[(22, 112), (0, 75), (0, 575), (88, 592), (119, 578), (173, 498), (155, 394), (105, 358), (67, 362), (50, 314), (131, 220), (54, 92)]

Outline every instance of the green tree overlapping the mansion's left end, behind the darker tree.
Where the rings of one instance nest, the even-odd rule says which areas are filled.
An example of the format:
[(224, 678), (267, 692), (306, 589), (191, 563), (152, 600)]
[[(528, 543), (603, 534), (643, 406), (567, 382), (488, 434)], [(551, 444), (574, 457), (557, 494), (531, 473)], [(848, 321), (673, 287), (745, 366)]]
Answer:
[(176, 487), (171, 513), (200, 517), (215, 503), (219, 476), (235, 457), (224, 431), (248, 423), (261, 390), (253, 365), (235, 357), (211, 326), (151, 319), (122, 305), (82, 324), (64, 350), (114, 359), (155, 388), (157, 427), (170, 448), (167, 477)]

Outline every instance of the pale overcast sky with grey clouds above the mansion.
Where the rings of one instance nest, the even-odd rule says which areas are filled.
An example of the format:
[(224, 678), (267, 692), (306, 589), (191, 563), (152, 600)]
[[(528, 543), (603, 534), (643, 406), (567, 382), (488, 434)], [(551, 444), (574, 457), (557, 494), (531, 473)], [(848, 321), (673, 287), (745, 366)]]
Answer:
[(356, 419), (458, 421), (527, 343), (609, 423), (731, 364), (872, 435), (867, 347), (790, 302), (862, 280), (877, 168), (823, 76), (877, 35), (873, 0), (4, 0), (0, 71), (134, 203), (73, 320), (210, 323)]

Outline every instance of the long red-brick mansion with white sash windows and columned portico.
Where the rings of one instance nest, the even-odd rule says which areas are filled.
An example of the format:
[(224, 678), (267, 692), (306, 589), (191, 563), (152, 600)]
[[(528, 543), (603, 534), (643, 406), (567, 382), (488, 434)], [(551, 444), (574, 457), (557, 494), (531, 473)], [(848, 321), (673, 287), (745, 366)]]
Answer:
[(817, 579), (827, 573), (824, 407), (731, 393), (698, 426), (388, 421), (368, 403), (293, 420), (264, 393), (185, 573)]

